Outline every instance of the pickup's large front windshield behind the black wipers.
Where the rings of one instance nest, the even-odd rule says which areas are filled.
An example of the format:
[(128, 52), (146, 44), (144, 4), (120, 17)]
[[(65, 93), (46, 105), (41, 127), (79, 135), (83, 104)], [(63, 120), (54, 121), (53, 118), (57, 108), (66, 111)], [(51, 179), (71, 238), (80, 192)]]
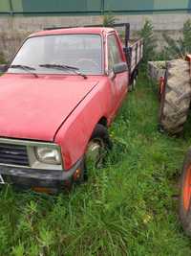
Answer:
[[(55, 69), (47, 64), (76, 67), (86, 75), (102, 73), (102, 46), (100, 35), (44, 35), (27, 39), (11, 65), (24, 65), (38, 74), (74, 74), (73, 69)], [(23, 69), (9, 69), (23, 73)]]

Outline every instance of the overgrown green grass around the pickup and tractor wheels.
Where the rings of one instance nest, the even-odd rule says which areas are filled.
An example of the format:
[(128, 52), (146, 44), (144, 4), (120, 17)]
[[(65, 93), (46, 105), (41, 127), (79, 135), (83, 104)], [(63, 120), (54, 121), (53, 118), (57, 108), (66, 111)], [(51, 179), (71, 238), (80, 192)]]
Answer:
[(110, 133), (106, 167), (70, 194), (0, 191), (0, 256), (191, 255), (178, 183), (191, 145), (158, 132), (157, 89), (140, 75)]

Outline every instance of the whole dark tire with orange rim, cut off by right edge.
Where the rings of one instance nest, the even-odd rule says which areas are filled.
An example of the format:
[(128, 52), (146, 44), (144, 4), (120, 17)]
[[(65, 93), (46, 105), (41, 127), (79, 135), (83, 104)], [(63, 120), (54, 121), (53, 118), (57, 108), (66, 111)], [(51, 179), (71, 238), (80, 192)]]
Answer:
[(187, 152), (180, 177), (180, 221), (191, 236), (191, 149)]

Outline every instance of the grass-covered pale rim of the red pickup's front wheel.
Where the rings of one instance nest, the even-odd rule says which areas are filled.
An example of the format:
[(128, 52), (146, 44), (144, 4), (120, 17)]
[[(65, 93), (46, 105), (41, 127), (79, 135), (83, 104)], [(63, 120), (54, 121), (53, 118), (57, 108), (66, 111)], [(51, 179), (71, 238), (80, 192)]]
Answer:
[(101, 139), (94, 139), (88, 144), (85, 161), (88, 168), (100, 168), (105, 155), (104, 143)]

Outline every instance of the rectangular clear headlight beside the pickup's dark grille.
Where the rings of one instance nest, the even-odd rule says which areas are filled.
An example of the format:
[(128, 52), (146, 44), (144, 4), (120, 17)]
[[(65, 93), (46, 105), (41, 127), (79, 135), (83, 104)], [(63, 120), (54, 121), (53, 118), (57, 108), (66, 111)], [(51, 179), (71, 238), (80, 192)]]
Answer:
[(38, 161), (46, 164), (61, 164), (61, 155), (59, 149), (51, 147), (35, 147), (34, 152)]

